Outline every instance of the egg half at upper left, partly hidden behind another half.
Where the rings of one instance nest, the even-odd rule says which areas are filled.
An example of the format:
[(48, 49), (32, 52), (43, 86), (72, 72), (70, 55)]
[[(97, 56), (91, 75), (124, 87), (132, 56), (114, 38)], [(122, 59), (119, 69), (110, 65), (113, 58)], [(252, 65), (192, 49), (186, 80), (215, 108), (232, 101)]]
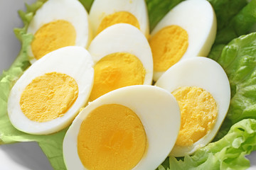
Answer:
[(60, 47), (87, 47), (90, 42), (87, 11), (78, 0), (46, 1), (27, 32), (34, 35), (28, 50), (31, 63)]

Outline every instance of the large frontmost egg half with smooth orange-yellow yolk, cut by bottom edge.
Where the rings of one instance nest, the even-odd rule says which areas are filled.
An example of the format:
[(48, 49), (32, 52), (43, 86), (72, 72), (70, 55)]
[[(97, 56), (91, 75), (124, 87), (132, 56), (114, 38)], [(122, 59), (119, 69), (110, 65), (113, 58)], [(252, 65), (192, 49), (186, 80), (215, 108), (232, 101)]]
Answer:
[(174, 146), (178, 103), (156, 86), (127, 86), (92, 101), (63, 141), (67, 169), (156, 169)]

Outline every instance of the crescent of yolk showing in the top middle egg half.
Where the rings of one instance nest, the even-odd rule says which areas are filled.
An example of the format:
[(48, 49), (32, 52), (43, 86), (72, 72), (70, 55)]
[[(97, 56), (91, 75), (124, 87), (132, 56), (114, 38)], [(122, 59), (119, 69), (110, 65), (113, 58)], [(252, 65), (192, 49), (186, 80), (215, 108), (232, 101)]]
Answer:
[(139, 21), (134, 15), (132, 15), (132, 13), (119, 11), (105, 16), (105, 18), (102, 19), (100, 26), (97, 28), (97, 34), (102, 32), (102, 30), (105, 30), (105, 28), (117, 23), (129, 23), (139, 29)]

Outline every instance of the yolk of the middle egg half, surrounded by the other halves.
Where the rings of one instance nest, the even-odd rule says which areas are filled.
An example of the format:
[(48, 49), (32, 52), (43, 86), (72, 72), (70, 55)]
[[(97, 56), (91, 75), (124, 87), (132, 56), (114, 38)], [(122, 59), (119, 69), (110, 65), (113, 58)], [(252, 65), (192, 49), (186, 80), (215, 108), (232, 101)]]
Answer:
[(144, 84), (146, 71), (142, 62), (125, 52), (112, 53), (95, 64), (95, 79), (90, 101), (124, 86)]

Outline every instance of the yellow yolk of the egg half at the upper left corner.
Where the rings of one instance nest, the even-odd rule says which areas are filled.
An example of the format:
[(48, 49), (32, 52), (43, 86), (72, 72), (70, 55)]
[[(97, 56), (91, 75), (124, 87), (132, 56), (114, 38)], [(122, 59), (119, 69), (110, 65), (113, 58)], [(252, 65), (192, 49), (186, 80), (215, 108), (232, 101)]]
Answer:
[(43, 25), (36, 31), (31, 42), (31, 50), (38, 60), (60, 47), (75, 45), (76, 32), (68, 21), (58, 20)]

